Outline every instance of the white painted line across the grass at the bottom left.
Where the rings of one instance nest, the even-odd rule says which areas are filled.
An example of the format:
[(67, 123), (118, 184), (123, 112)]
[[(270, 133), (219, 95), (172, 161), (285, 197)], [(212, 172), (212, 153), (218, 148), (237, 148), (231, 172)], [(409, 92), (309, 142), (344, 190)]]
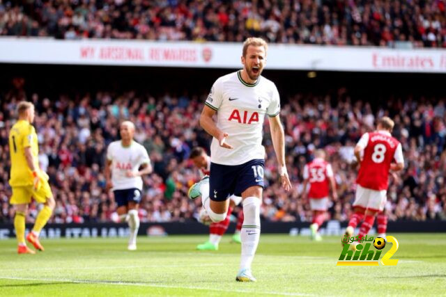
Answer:
[(157, 287), (157, 288), (171, 288), (171, 289), (193, 289), (193, 290), (208, 290), (208, 291), (222, 291), (222, 292), (236, 292), (236, 293), (260, 293), (267, 295), (281, 295), (281, 296), (313, 296), (311, 294), (302, 293), (286, 293), (286, 292), (275, 292), (275, 291), (253, 291), (253, 290), (226, 290), (226, 289), (213, 289), (213, 288), (203, 288), (203, 287), (181, 287), (181, 286), (169, 286), (167, 284), (146, 284), (144, 282), (107, 282), (100, 280), (69, 280), (66, 278), (52, 279), (52, 278), (15, 278), (0, 276), (3, 280), (40, 280), (44, 282), (72, 282), (73, 284), (112, 284), (116, 286), (134, 286), (134, 287)]

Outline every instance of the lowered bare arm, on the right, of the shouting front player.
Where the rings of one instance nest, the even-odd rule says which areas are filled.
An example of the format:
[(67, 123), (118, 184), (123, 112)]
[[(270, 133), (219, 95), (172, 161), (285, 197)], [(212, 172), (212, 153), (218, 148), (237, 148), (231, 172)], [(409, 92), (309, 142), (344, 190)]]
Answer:
[(284, 127), (282, 127), (278, 114), (274, 117), (270, 117), (269, 121), (272, 146), (274, 147), (276, 153), (277, 163), (279, 163), (279, 174), (282, 179), (282, 187), (285, 189), (285, 191), (289, 191), (291, 190), (292, 186), (288, 177), (288, 172), (286, 171)]

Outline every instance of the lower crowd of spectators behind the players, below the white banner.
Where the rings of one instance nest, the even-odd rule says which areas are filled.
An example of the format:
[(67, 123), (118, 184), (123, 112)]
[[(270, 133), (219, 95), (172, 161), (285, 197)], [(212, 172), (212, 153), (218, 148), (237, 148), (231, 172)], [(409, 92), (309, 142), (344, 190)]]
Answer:
[[(27, 99), (36, 106), (34, 126), (40, 144), (40, 166), (49, 175), (56, 198), (51, 222), (106, 222), (116, 217), (112, 193), (105, 191), (105, 150), (119, 138), (123, 119), (137, 127), (135, 140), (144, 145), (154, 172), (144, 177), (139, 216), (143, 222), (189, 220), (197, 216), (200, 201), (187, 198), (187, 189), (199, 179), (188, 159), (192, 147), (208, 147), (210, 138), (199, 127), (207, 94), (152, 97), (135, 90), (123, 93), (95, 91), (58, 97), (26, 95), (23, 81), (0, 93), (0, 222), (12, 222), (8, 204), (10, 157), (8, 131), (15, 122), (15, 106)], [(372, 109), (339, 88), (332, 95), (299, 93), (284, 98), (281, 118), (286, 131), (286, 156), (293, 190), (285, 193), (277, 176), (269, 126), (264, 145), (267, 188), (262, 216), (273, 221), (309, 221), (309, 203), (302, 195), (302, 168), (312, 152), (324, 148), (332, 163), (339, 198), (331, 202), (330, 217), (348, 220), (355, 193), (356, 172), (349, 164), (360, 136), (374, 129), (374, 121), (390, 115), (394, 136), (403, 145), (405, 169), (392, 177), (386, 212), (390, 220), (446, 220), (446, 106), (441, 98), (387, 98)], [(267, 120), (266, 120), (267, 122)], [(36, 217), (32, 204), (27, 220)]]

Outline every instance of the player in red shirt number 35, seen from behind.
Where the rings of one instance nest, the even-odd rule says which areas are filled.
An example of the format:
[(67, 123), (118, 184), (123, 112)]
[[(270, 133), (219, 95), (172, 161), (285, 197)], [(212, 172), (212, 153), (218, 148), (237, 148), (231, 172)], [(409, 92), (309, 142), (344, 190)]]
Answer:
[[(303, 177), (302, 195), (308, 196), (309, 205), (313, 212), (312, 225), (309, 226), (312, 231), (312, 239), (321, 241), (322, 237), (318, 229), (327, 217), (329, 184), (332, 187), (333, 200), (337, 200), (336, 182), (334, 182), (332, 166), (325, 161), (325, 152), (323, 150), (314, 152), (314, 160), (305, 165)], [(308, 184), (309, 191), (307, 193)]]

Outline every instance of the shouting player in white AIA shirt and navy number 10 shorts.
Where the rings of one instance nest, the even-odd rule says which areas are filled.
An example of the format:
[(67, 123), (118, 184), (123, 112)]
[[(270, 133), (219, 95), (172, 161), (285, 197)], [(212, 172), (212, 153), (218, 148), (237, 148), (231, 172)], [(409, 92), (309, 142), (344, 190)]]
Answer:
[[(241, 232), (242, 255), (236, 280), (254, 282), (251, 264), (260, 236), (265, 148), (263, 120), (268, 114), (272, 143), (279, 163), (282, 186), (291, 189), (286, 171), (284, 129), (279, 119), (279, 92), (261, 77), (268, 45), (261, 38), (243, 44), (243, 70), (215, 81), (206, 99), (200, 125), (213, 136), (210, 146), (209, 196), (203, 201), (213, 222), (226, 218), (231, 194), (242, 196), (245, 220)], [(217, 122), (213, 115), (217, 113)]]

